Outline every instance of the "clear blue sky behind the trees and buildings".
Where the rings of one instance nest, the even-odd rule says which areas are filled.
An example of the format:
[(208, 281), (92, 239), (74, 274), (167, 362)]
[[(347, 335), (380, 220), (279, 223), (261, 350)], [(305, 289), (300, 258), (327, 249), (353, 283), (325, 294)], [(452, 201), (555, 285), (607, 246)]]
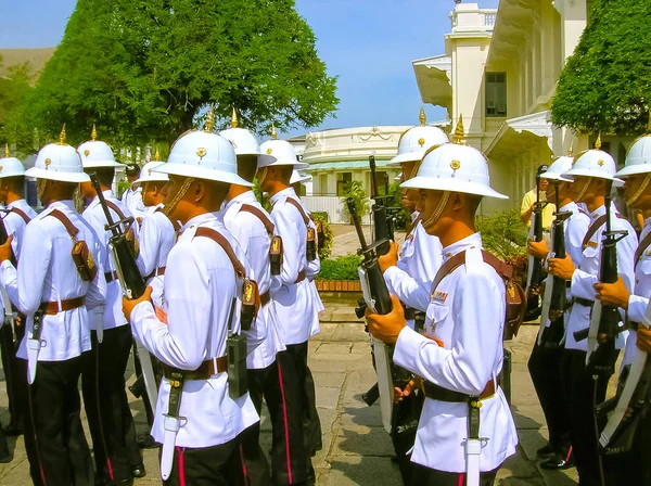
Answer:
[[(110, 0), (106, 0), (110, 1)], [(217, 0), (216, 0), (217, 1)], [(496, 8), (499, 0), (476, 0)], [(467, 1), (468, 3), (469, 1)], [(75, 0), (0, 0), (0, 49), (58, 44)], [(326, 128), (416, 125), (421, 106), (411, 62), (444, 54), (444, 35), (454, 0), (296, 0), (317, 37), (319, 56), (337, 76), (341, 102)], [(445, 119), (444, 108), (426, 105), (430, 122)]]

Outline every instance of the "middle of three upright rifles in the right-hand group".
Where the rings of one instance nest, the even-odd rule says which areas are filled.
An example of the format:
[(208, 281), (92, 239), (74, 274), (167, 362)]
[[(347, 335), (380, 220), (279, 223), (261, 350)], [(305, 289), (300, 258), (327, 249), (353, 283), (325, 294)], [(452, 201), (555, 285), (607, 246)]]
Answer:
[[(552, 252), (554, 258), (565, 258), (565, 220), (572, 216), (571, 212), (561, 212), (559, 186), (556, 181), (556, 207), (552, 222)], [(542, 312), (540, 314), (541, 332), (538, 335), (538, 345), (546, 348), (559, 348), (565, 335), (565, 323), (563, 315), (567, 307), (567, 294), (565, 280), (554, 277), (551, 273), (547, 276), (545, 286), (545, 297), (542, 298)], [(550, 320), (547, 327), (547, 320)]]

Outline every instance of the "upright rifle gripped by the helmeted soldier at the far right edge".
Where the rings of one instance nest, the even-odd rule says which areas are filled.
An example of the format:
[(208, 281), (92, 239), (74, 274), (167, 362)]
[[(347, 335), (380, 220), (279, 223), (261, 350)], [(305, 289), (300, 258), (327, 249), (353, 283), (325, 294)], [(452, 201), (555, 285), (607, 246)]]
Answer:
[[(601, 241), (601, 264), (599, 267), (599, 281), (615, 283), (617, 281), (617, 242), (624, 239), (628, 231), (613, 231), (611, 225), (611, 195), (610, 190), (605, 196), (605, 231)], [(574, 333), (576, 341), (588, 338), (588, 353), (586, 366), (593, 375), (610, 376), (615, 371), (616, 350), (615, 338), (623, 331), (620, 329), (622, 316), (616, 306), (603, 306), (600, 300), (595, 302), (590, 327), (587, 330)]]

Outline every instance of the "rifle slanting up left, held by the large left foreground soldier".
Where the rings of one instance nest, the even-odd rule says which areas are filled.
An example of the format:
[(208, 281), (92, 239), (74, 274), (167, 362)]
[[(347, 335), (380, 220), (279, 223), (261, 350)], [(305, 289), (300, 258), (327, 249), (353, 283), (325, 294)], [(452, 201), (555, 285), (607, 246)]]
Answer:
[(111, 248), (111, 254), (113, 255), (113, 261), (115, 261), (117, 278), (122, 284), (123, 292), (128, 299), (132, 300), (135, 298), (139, 298), (142, 296), (142, 294), (144, 294), (146, 284), (140, 274), (140, 270), (138, 270), (136, 255), (133, 254), (131, 244), (127, 241), (126, 231), (123, 231), (123, 225), (125, 225), (127, 229), (133, 225), (133, 217), (129, 216), (128, 218), (113, 221), (113, 216), (111, 216), (111, 212), (108, 210), (108, 205), (106, 204), (106, 200), (102, 193), (102, 188), (100, 186), (100, 181), (98, 180), (97, 172), (90, 174), (90, 181), (92, 182), (93, 189), (98, 193), (100, 205), (102, 206), (104, 216), (106, 217), (106, 225), (104, 226), (104, 229), (113, 233), (108, 240), (108, 247)]

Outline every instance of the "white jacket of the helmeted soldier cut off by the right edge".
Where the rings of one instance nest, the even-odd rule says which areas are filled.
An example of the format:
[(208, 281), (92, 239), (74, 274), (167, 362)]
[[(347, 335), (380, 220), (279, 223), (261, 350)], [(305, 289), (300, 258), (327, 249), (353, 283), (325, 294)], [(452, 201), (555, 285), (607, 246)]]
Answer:
[[(644, 221), (644, 228), (640, 234), (640, 242), (651, 232), (651, 218)], [(628, 297), (628, 319), (633, 322), (643, 322), (644, 312), (649, 306), (649, 297), (651, 297), (651, 246), (647, 247), (635, 263), (635, 293)], [(623, 366), (630, 364), (635, 358), (636, 351), (636, 334), (635, 331), (629, 331), (630, 335), (626, 341), (626, 351), (624, 353)]]

